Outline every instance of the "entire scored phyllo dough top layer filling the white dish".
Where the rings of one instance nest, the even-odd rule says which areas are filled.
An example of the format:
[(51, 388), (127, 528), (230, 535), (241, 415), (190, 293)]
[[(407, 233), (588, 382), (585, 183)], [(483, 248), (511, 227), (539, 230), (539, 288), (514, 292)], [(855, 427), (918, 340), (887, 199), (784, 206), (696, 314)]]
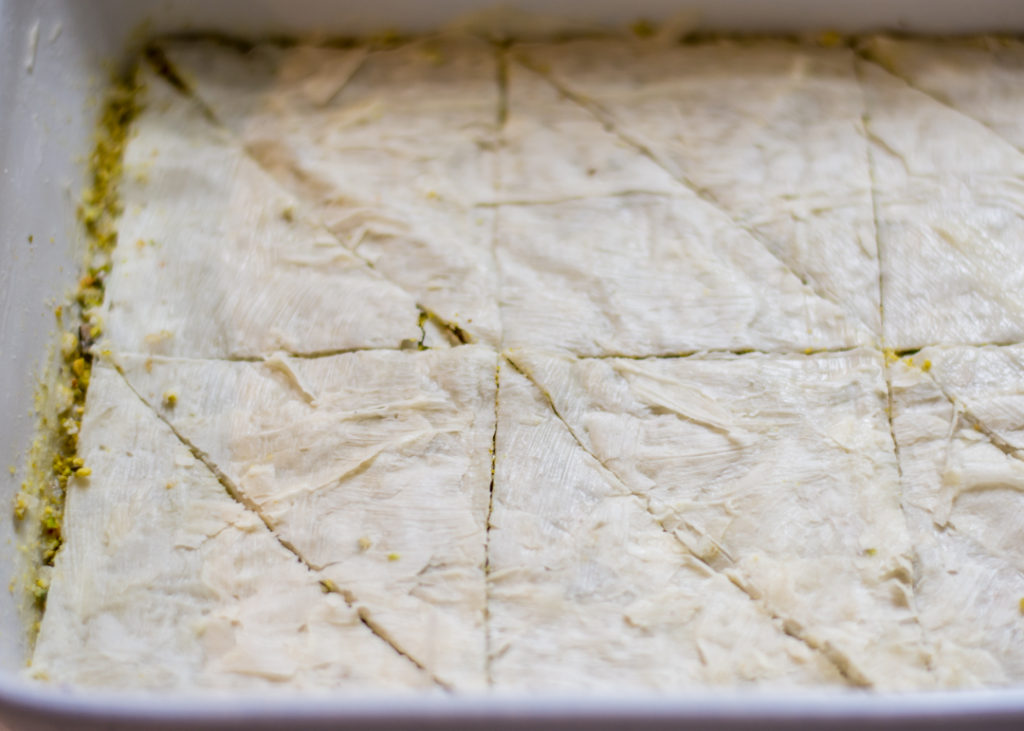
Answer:
[(1020, 48), (158, 42), (30, 672), (1020, 683)]

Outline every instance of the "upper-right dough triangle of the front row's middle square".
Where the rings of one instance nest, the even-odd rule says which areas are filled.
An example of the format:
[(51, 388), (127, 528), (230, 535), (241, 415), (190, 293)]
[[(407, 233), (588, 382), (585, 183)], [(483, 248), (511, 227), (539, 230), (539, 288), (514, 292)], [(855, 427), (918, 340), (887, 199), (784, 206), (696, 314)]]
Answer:
[(510, 357), (680, 541), (851, 678), (931, 682), (879, 353)]

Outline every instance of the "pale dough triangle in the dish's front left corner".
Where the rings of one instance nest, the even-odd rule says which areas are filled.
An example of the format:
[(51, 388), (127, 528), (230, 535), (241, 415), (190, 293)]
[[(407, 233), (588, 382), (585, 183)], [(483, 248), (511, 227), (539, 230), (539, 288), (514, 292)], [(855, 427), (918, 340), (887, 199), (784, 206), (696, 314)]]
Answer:
[(427, 688), (95, 365), (32, 673), (137, 688)]

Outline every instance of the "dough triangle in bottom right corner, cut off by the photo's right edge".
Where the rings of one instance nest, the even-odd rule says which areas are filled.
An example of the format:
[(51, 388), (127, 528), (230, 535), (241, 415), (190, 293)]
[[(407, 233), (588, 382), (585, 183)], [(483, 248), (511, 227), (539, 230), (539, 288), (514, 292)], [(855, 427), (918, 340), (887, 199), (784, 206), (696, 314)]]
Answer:
[(936, 675), (950, 686), (1019, 682), (1024, 462), (977, 431), (916, 364), (901, 360), (892, 372), (915, 605)]

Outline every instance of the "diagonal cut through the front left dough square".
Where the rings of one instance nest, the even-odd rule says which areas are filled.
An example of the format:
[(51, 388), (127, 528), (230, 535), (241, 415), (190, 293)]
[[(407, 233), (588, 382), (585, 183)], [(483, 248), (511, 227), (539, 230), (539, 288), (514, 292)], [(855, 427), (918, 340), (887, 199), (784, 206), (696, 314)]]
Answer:
[(345, 603), (355, 609), (359, 620), (362, 622), (367, 629), (373, 633), (378, 639), (387, 644), (396, 653), (408, 659), (410, 662), (415, 664), (421, 672), (425, 673), (430, 680), (442, 688), (445, 691), (451, 691), (452, 688), (446, 683), (435, 677), (430, 673), (426, 665), (420, 662), (416, 657), (410, 654), (404, 648), (402, 648), (386, 631), (383, 630), (376, 621), (374, 621), (371, 612), (364, 606), (356, 606), (356, 597), (347, 589), (339, 588), (334, 582), (329, 578), (324, 578), (319, 575), (321, 567), (311, 563), (302, 553), (292, 544), (290, 541), (282, 536), (276, 530), (274, 530), (272, 523), (266, 517), (259, 506), (245, 493), (242, 489), (236, 485), (230, 478), (224, 474), (224, 472), (210, 459), (209, 455), (199, 448), (194, 444), (187, 437), (185, 437), (181, 432), (179, 432), (170, 421), (168, 421), (164, 415), (162, 415), (157, 408), (154, 407), (152, 403), (141, 393), (135, 390), (135, 386), (128, 379), (128, 376), (122, 371), (121, 367), (116, 362), (110, 363), (124, 380), (125, 385), (128, 386), (129, 390), (135, 394), (135, 396), (141, 401), (150, 412), (159, 419), (164, 425), (170, 429), (171, 433), (181, 442), (181, 444), (188, 449), (191, 455), (199, 460), (204, 467), (216, 478), (216, 480), (221, 484), (228, 496), (231, 497), (237, 503), (239, 503), (246, 510), (252, 512), (256, 517), (260, 519), (267, 531), (274, 538), (274, 540), (281, 544), (281, 546), (286, 549), (289, 553), (295, 556), (299, 562), (305, 567), (310, 574), (312, 574), (321, 584), (321, 586), (328, 592), (339, 595), (344, 599)]

